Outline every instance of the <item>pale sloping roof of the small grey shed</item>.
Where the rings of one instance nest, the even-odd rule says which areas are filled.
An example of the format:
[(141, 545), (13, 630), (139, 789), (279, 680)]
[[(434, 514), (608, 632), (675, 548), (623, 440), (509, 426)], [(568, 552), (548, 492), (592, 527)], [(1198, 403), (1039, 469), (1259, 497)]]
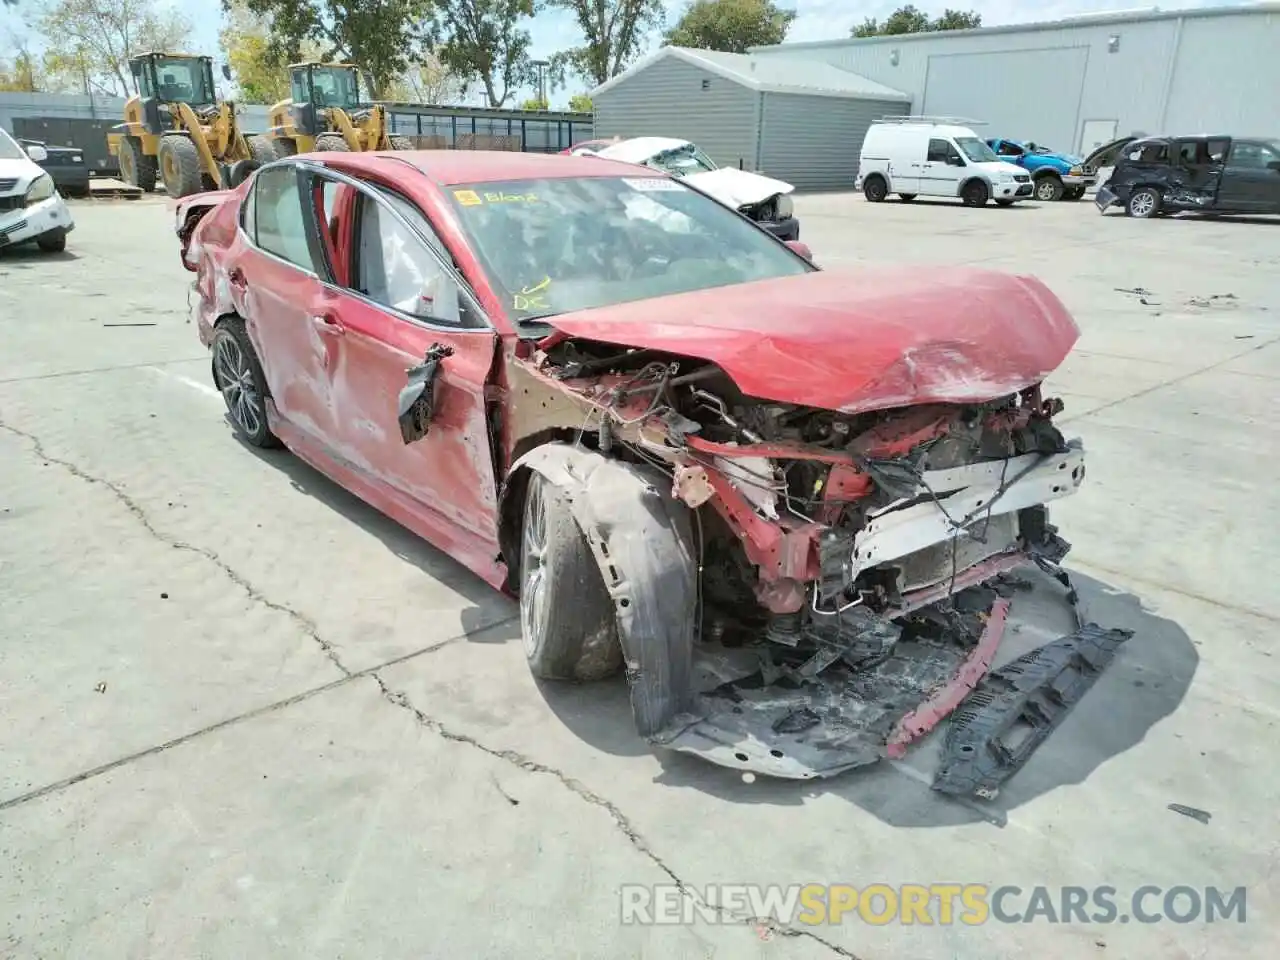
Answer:
[(628, 77), (634, 77), (668, 58), (684, 60), (733, 83), (765, 93), (808, 93), (809, 96), (845, 97), (847, 100), (911, 101), (910, 93), (886, 87), (883, 83), (877, 83), (850, 70), (842, 70), (828, 63), (783, 61), (776, 58), (756, 58), (750, 54), (690, 50), (682, 46), (662, 47), (650, 56), (636, 61), (617, 77), (598, 86), (591, 91), (591, 96), (599, 96)]

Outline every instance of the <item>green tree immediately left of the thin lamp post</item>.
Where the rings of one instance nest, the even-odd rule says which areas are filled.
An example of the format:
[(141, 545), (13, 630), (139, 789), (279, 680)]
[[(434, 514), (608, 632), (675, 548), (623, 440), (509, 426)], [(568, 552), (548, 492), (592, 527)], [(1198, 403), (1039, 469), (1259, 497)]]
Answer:
[(442, 63), (461, 79), (476, 79), (498, 108), (532, 82), (529, 31), (534, 0), (436, 0)]

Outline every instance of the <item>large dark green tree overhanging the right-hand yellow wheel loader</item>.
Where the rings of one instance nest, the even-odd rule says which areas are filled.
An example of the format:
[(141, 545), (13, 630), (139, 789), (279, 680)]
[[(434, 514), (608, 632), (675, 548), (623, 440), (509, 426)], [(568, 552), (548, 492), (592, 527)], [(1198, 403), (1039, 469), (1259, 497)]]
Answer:
[[(237, 0), (223, 0), (223, 9)], [(302, 59), (314, 44), (319, 59), (358, 64), (375, 97), (394, 83), (425, 49), (431, 0), (243, 0), (271, 24), (271, 56)]]

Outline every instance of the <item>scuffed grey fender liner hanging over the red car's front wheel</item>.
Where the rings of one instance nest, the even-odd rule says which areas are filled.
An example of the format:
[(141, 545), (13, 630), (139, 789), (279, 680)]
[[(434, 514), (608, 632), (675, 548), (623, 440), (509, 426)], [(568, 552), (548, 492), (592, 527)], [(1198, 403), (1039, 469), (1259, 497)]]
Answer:
[(698, 564), (689, 511), (660, 471), (584, 447), (536, 447), (512, 475), (521, 468), (568, 498), (613, 599), (636, 730), (650, 737), (691, 698)]

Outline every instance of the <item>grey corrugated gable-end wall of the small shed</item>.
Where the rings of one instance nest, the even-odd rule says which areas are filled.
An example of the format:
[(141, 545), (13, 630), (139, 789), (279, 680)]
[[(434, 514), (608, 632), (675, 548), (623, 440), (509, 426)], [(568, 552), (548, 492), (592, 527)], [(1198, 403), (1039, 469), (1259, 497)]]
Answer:
[(596, 137), (677, 137), (721, 166), (755, 166), (760, 95), (667, 58), (598, 93)]

